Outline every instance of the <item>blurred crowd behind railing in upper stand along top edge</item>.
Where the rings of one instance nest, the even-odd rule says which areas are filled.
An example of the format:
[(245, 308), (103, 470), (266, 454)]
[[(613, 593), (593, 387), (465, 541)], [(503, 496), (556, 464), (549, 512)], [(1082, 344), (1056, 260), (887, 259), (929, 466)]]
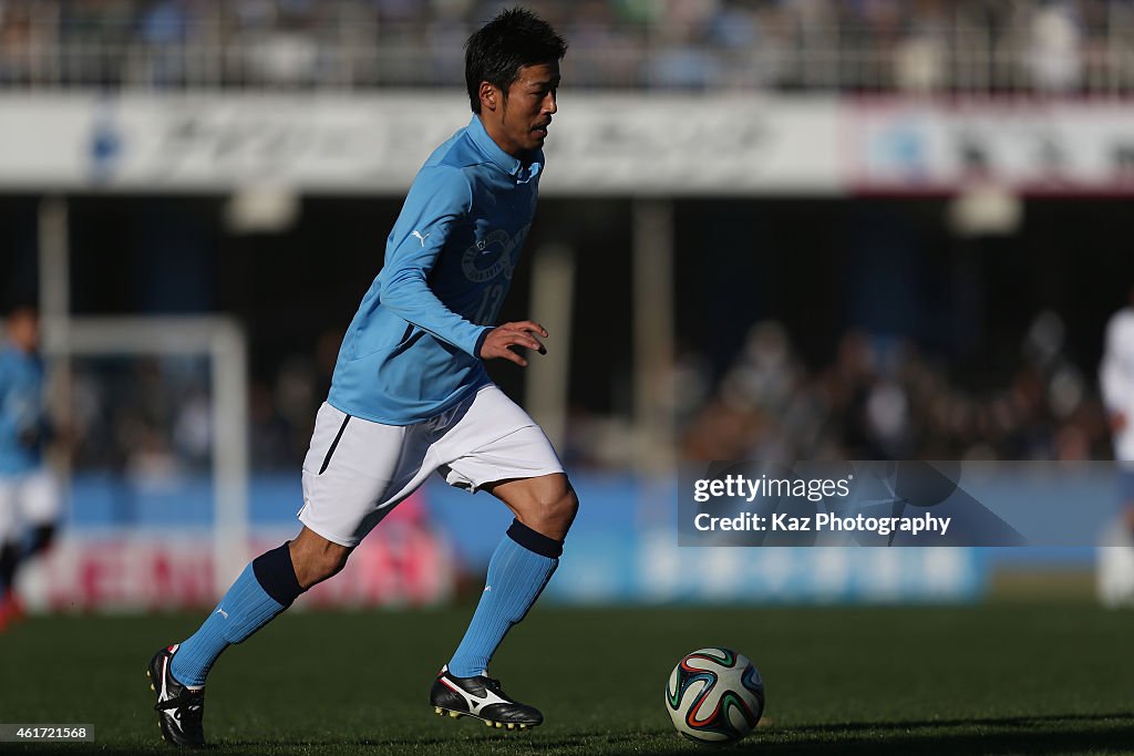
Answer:
[[(0, 0), (8, 87), (459, 86), (484, 0)], [(1132, 0), (530, 0), (573, 87), (1127, 91)]]

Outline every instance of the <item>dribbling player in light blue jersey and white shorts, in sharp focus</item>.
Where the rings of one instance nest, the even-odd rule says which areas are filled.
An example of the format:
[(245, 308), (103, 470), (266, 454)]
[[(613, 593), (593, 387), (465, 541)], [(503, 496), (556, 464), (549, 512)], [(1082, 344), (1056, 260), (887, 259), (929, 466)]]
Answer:
[(508, 729), (543, 721), (488, 677), (488, 664), (555, 572), (578, 501), (543, 432), (492, 383), (484, 362), (526, 366), (514, 348), (544, 351), (539, 323), (492, 323), (535, 211), (566, 50), (524, 9), (501, 12), (469, 37), (472, 120), (414, 179), (386, 264), (342, 340), (303, 465), (303, 529), (253, 560), (193, 636), (151, 660), (168, 741), (203, 745), (205, 677), (221, 652), (341, 570), (350, 550), (434, 472), (450, 485), (490, 492), (515, 521), (430, 704)]

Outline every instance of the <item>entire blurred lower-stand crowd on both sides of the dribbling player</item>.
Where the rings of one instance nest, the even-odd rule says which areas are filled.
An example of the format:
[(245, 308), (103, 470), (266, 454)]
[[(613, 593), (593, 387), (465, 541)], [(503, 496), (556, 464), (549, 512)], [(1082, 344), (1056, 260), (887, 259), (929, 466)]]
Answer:
[[(338, 332), (248, 389), (254, 470), (296, 470), (327, 393)], [(752, 328), (713, 381), (695, 352), (675, 362), (667, 392), (686, 459), (1109, 459), (1099, 393), (1065, 356), (1064, 326), (1044, 313), (1002, 385), (974, 389), (903, 340), (846, 332), (828, 364), (809, 368), (787, 330)], [(161, 485), (212, 464), (210, 366), (203, 357), (88, 358), (73, 365), (74, 465)], [(1092, 371), (1093, 373), (1093, 371)], [(627, 416), (576, 411), (561, 453), (583, 469), (628, 469)]]

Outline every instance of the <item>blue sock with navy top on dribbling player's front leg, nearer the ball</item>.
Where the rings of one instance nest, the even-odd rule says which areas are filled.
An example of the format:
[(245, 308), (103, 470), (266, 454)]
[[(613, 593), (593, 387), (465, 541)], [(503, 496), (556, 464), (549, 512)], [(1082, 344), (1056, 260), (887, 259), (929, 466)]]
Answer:
[(489, 561), (488, 584), (449, 662), (458, 678), (484, 674), (513, 625), (527, 614), (559, 566), (562, 543), (516, 520)]

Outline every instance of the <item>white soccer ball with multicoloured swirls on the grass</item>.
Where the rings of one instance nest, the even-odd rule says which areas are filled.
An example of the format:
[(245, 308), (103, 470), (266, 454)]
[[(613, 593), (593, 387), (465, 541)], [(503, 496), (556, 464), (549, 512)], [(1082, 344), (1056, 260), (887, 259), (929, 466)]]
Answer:
[(760, 721), (764, 683), (747, 656), (728, 648), (701, 648), (670, 672), (666, 710), (689, 740), (735, 742)]

